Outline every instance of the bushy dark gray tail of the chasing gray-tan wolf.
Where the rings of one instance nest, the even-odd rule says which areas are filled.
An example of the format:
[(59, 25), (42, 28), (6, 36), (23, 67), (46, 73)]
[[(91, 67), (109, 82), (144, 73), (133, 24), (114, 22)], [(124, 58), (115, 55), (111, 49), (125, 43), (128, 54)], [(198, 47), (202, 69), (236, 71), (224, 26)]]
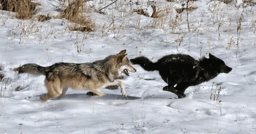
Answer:
[(14, 68), (19, 74), (28, 73), (35, 76), (45, 75), (47, 67), (39, 66), (35, 63), (24, 64), (23, 66)]

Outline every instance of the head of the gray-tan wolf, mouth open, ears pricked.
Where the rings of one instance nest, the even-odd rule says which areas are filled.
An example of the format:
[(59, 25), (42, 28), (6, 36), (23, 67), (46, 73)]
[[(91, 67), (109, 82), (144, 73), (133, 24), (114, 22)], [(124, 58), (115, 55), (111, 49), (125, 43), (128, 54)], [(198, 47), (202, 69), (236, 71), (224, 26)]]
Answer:
[(127, 58), (126, 50), (120, 51), (117, 56), (117, 66), (121, 70), (121, 73), (125, 74), (126, 76), (129, 76), (129, 72), (136, 72), (136, 69), (131, 66), (131, 63), (129, 59)]

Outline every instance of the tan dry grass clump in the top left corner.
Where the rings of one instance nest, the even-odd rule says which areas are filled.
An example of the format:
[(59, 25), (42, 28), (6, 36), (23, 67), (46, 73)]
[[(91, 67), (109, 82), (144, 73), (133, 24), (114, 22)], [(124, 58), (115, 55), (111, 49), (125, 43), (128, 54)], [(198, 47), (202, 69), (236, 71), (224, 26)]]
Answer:
[(17, 19), (31, 19), (35, 12), (35, 6), (40, 4), (32, 3), (30, 0), (0, 0), (1, 10), (15, 12)]

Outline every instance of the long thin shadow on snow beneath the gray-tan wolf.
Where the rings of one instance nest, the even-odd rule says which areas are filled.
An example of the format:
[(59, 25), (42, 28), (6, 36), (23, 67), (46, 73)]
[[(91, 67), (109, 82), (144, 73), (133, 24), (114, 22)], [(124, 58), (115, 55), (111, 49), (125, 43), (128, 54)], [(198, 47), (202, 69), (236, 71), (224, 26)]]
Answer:
[[(44, 96), (46, 94), (40, 94), (37, 95), (37, 97)], [(76, 99), (76, 100), (139, 100), (141, 97), (134, 97), (134, 96), (127, 96), (123, 97), (119, 94), (103, 94), (102, 97), (90, 97), (87, 94), (65, 94), (65, 96), (61, 99)], [(54, 98), (53, 100), (57, 100), (57, 98)]]

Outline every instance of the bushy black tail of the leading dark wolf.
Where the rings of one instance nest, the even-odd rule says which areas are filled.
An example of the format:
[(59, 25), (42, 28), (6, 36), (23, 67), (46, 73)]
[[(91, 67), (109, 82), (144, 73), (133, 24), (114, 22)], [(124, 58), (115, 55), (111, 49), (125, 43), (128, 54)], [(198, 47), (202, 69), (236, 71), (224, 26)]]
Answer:
[(157, 63), (151, 62), (147, 57), (140, 56), (134, 59), (130, 59), (131, 63), (140, 65), (145, 71), (158, 70)]

